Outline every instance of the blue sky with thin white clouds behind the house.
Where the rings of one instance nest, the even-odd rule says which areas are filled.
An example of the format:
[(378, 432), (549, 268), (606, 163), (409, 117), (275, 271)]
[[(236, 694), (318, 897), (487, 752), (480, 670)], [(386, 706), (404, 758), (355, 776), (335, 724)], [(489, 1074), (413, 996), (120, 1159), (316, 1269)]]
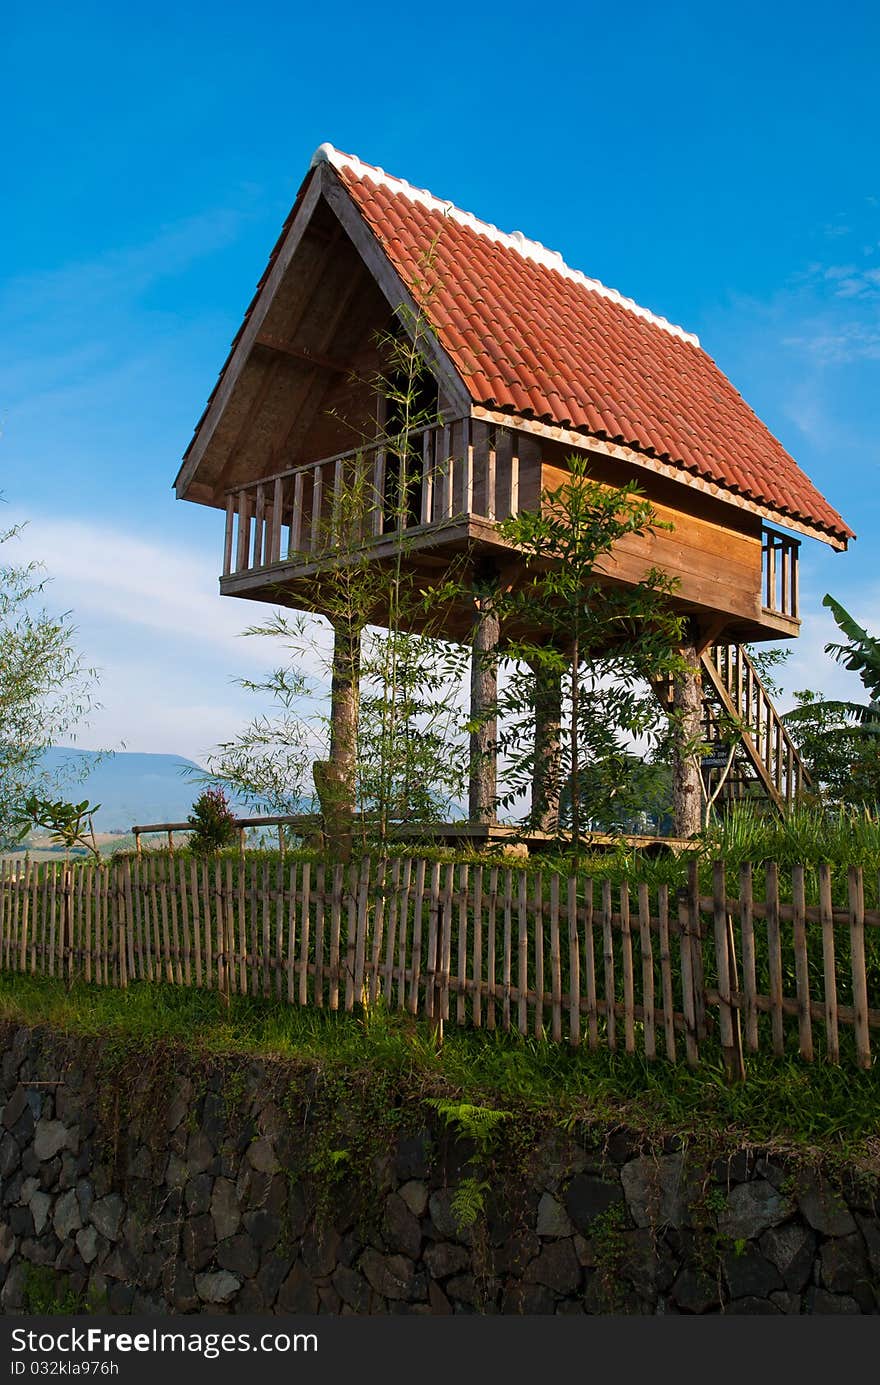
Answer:
[(82, 744), (200, 759), (254, 711), (265, 608), (170, 483), (324, 140), (700, 335), (859, 536), (805, 542), (784, 676), (858, 694), (820, 598), (880, 627), (879, 60), (859, 0), (7, 0), (0, 489), (103, 669)]

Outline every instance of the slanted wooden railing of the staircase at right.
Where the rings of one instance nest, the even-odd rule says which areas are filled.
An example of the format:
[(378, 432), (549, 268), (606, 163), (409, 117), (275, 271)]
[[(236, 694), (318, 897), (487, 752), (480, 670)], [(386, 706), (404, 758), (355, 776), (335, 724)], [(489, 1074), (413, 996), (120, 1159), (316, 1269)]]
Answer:
[(786, 723), (741, 644), (716, 644), (703, 654), (704, 701), (710, 729), (718, 727), (712, 704), (725, 719), (741, 723), (741, 747), (754, 777), (777, 807), (790, 807), (809, 776)]

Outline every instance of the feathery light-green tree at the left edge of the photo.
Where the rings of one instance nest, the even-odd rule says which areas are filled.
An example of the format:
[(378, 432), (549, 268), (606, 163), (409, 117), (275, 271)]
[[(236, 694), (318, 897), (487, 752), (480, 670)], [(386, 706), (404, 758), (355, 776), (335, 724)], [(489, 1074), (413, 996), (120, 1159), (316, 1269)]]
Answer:
[[(18, 533), (1, 532), (0, 546)], [(0, 558), (0, 843), (26, 830), (25, 801), (47, 781), (43, 752), (96, 705), (96, 672), (76, 651), (69, 614), (42, 605), (46, 582), (40, 564)]]

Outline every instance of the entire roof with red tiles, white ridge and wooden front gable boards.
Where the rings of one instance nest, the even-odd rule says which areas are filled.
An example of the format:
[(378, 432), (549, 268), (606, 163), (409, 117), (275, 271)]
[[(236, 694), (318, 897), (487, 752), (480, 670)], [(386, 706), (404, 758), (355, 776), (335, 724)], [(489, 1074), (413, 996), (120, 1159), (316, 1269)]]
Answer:
[[(434, 283), (431, 366), (460, 411), (590, 439), (606, 452), (845, 547), (852, 530), (723, 373), (682, 328), (381, 169), (316, 152), (177, 476), (201, 458), (319, 204), (331, 208), (391, 309)], [(430, 263), (425, 265), (425, 255)], [(216, 496), (208, 503), (218, 503)]]

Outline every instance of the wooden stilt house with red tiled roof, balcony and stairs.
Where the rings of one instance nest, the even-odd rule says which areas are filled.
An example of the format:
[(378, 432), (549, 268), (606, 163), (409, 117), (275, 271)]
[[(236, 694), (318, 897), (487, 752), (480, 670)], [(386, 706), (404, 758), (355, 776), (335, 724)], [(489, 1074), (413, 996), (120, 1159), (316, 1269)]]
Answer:
[[(377, 379), (381, 342), (416, 321), (427, 367), (419, 388), (434, 421), (407, 440), (402, 504), (388, 447), (395, 421)], [(341, 561), (334, 537), (388, 564), (405, 536), (407, 569), (428, 589), (452, 562), (516, 578), (521, 560), (498, 522), (534, 507), (572, 450), (611, 486), (637, 481), (672, 522), (621, 542), (608, 573), (628, 583), (658, 566), (678, 578), (704, 734), (719, 713), (740, 716), (733, 783), (751, 777), (777, 806), (791, 802), (802, 767), (743, 644), (798, 633), (801, 537), (841, 550), (852, 532), (696, 337), (521, 233), (322, 145), (176, 493), (226, 515), (225, 596), (320, 609), (320, 572)], [(358, 533), (334, 536), (352, 467), (371, 499)], [(481, 715), (492, 697), (492, 615), (463, 600), (445, 633), (473, 641)], [(335, 684), (331, 753), (345, 762), (356, 686)], [(489, 722), (474, 744), (475, 821), (493, 813), (492, 738)]]

